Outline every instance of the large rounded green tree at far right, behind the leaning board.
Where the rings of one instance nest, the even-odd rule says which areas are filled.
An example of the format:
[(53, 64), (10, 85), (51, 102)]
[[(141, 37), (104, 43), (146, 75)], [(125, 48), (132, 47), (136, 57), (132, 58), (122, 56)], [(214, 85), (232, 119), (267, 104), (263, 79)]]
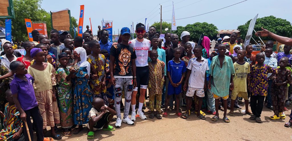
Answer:
[[(237, 27), (237, 30), (240, 31), (240, 35), (242, 37), (242, 39), (245, 38), (247, 30), (248, 30), (248, 26), (251, 20), (248, 20), (244, 25), (239, 25)], [(287, 21), (286, 19), (281, 19), (281, 18), (277, 18), (275, 16), (267, 16), (267, 17), (263, 17), (263, 18), (258, 18), (256, 20), (256, 24), (254, 27), (254, 30), (256, 31), (261, 31), (261, 27), (269, 30), (270, 32), (273, 32), (277, 35), (280, 36), (284, 36), (284, 37), (291, 37), (292, 36), (292, 26), (291, 23), (289, 21)], [(252, 35), (253, 39), (258, 39), (258, 37), (256, 37), (254, 35)], [(274, 40), (271, 37), (261, 37), (262, 40)]]

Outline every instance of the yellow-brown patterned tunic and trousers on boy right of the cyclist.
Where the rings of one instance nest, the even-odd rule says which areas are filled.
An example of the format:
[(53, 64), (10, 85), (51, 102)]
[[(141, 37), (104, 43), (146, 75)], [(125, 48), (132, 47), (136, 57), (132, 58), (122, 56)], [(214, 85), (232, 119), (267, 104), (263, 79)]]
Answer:
[[(156, 105), (156, 111), (159, 111), (161, 108), (161, 96), (162, 96), (162, 88), (164, 84), (164, 62), (157, 61), (156, 65), (153, 66), (151, 62), (148, 63), (149, 67), (149, 105), (150, 110), (154, 111), (154, 105)], [(154, 99), (156, 98), (156, 104), (154, 103)]]

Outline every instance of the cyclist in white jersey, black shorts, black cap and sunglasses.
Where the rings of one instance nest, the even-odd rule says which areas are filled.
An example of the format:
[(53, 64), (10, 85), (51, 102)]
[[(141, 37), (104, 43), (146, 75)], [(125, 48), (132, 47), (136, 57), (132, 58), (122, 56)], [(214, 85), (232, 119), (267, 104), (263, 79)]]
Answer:
[[(145, 34), (145, 25), (138, 23), (136, 25), (136, 35), (137, 38), (129, 41), (129, 46), (133, 47), (137, 56), (135, 59), (136, 63), (136, 80), (137, 86), (133, 89), (131, 106), (132, 106), (132, 115), (131, 120), (135, 121), (136, 117), (141, 119), (147, 119), (142, 112), (142, 106), (145, 99), (145, 93), (147, 91), (148, 79), (149, 79), (149, 68), (148, 68), (148, 53), (150, 52), (150, 40), (144, 39)], [(138, 93), (138, 87), (140, 86), (140, 97), (139, 97), (139, 107), (137, 114), (135, 112), (136, 106), (136, 95)]]

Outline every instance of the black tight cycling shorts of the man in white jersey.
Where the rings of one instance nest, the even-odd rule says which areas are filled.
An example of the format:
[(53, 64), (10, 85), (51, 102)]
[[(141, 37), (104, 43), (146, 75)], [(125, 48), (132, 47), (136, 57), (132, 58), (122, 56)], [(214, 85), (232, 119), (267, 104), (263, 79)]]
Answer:
[(142, 89), (147, 89), (148, 80), (149, 80), (149, 68), (148, 66), (136, 67), (136, 80), (137, 86)]

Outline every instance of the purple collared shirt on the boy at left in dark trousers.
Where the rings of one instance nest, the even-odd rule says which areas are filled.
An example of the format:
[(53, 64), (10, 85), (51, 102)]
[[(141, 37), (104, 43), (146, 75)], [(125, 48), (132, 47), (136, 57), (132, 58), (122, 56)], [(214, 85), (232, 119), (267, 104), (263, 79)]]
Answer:
[(30, 74), (24, 75), (27, 79), (21, 80), (14, 75), (14, 79), (11, 81), (10, 88), (12, 94), (18, 94), (18, 101), (24, 111), (32, 109), (38, 106), (36, 102), (36, 96), (34, 94), (34, 78)]

